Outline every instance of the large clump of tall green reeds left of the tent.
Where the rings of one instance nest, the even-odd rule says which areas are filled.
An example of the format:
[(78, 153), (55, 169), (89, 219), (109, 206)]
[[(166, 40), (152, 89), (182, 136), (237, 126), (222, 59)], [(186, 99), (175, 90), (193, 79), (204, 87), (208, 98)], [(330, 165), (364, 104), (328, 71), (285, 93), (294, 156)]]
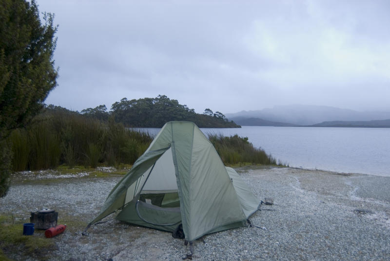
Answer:
[(41, 115), (28, 129), (8, 139), (14, 171), (57, 168), (66, 164), (133, 164), (153, 140), (148, 133), (129, 130), (113, 120), (102, 122), (79, 114)]

